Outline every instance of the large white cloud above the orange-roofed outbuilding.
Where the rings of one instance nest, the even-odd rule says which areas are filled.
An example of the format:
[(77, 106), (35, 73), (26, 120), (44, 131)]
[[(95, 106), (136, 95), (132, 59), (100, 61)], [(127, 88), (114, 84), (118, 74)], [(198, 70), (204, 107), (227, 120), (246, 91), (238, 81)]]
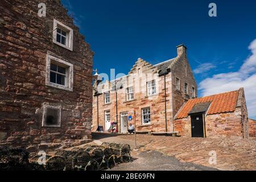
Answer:
[(237, 72), (221, 73), (206, 78), (200, 82), (199, 90), (203, 96), (209, 96), (243, 87), (249, 117), (256, 118), (256, 39), (251, 42), (249, 49), (252, 54)]

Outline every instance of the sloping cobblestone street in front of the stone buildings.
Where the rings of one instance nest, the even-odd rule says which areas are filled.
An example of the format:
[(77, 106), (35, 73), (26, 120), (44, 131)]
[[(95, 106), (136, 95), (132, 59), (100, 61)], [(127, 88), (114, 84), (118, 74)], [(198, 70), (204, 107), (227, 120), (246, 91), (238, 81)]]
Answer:
[[(134, 135), (119, 135), (101, 140), (129, 143), (134, 147)], [(137, 135), (139, 151), (158, 151), (174, 156), (180, 162), (192, 162), (220, 170), (256, 170), (256, 139), (241, 138), (175, 138)], [(217, 164), (209, 164), (209, 152), (217, 155)]]

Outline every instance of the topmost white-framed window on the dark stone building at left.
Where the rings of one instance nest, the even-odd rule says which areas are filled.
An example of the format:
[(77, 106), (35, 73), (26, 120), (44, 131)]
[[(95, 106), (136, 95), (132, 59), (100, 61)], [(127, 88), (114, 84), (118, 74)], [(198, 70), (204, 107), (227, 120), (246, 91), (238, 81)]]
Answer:
[(53, 43), (73, 51), (73, 30), (58, 20), (53, 20)]

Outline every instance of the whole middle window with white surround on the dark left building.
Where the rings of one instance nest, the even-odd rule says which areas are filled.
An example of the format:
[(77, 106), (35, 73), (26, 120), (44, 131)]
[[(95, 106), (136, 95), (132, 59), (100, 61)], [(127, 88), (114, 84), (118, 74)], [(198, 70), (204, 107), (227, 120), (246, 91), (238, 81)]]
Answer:
[(73, 92), (73, 64), (47, 55), (46, 85)]

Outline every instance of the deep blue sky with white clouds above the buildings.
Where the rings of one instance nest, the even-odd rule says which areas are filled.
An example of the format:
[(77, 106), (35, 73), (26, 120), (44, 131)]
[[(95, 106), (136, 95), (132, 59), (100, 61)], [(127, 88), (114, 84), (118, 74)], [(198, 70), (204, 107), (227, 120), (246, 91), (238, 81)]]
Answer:
[[(100, 73), (115, 68), (126, 74), (138, 57), (160, 63), (175, 57), (176, 46), (184, 43), (199, 96), (243, 86), (250, 117), (256, 118), (256, 85), (248, 84), (254, 76), (256, 82), (256, 1), (62, 2), (95, 52), (94, 68)], [(217, 5), (217, 17), (208, 16), (211, 2)], [(246, 65), (255, 69), (242, 72)]]

